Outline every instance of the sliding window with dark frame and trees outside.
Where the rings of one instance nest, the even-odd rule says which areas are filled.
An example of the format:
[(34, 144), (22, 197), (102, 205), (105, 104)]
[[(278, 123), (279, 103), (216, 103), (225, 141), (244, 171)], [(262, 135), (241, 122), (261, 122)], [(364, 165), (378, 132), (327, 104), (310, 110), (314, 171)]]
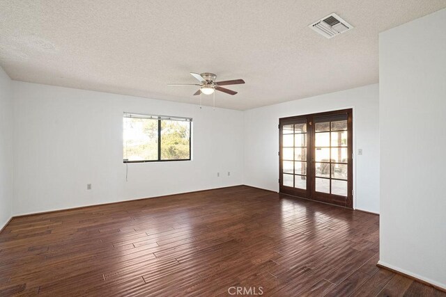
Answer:
[(192, 118), (124, 113), (124, 163), (190, 160)]

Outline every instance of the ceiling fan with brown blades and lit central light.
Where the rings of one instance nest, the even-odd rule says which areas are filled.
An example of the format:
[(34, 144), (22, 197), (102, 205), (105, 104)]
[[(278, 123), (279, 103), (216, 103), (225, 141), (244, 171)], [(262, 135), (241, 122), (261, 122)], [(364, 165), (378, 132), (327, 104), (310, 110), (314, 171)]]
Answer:
[(201, 74), (190, 72), (192, 77), (195, 77), (200, 83), (168, 83), (167, 86), (199, 86), (199, 90), (194, 93), (194, 95), (200, 95), (201, 93), (205, 95), (210, 95), (215, 92), (215, 90), (220, 90), (220, 92), (236, 95), (237, 92), (229, 90), (227, 88), (222, 88), (222, 86), (228, 85), (238, 85), (240, 83), (245, 83), (243, 79), (233, 79), (232, 81), (215, 81), (217, 75), (209, 72), (204, 72)]

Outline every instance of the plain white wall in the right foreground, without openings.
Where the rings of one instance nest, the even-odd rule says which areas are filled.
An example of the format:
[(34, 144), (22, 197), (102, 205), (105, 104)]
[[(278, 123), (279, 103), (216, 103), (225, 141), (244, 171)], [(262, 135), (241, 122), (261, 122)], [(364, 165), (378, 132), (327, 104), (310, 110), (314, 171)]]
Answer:
[(446, 10), (380, 34), (380, 264), (446, 289)]

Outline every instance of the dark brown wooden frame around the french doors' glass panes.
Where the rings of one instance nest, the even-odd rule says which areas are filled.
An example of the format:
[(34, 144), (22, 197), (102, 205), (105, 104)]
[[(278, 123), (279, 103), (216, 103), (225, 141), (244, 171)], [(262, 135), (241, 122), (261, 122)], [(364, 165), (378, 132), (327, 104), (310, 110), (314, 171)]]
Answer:
[[(347, 145), (347, 155), (348, 155), (348, 166), (347, 166), (347, 197), (341, 195), (334, 195), (328, 193), (321, 193), (315, 191), (315, 168), (314, 168), (314, 118), (320, 116), (330, 116), (338, 115), (340, 113), (347, 114), (347, 131), (348, 134), (348, 145)], [(282, 160), (282, 127), (286, 125), (284, 123), (291, 124), (291, 122), (296, 120), (304, 120), (307, 122), (307, 189), (301, 190), (298, 188), (284, 188), (283, 186), (283, 160)], [(311, 159), (311, 160), (310, 160)], [(353, 185), (354, 185), (354, 175), (353, 175), (353, 108), (351, 109), (340, 109), (336, 111), (325, 111), (322, 113), (310, 113), (307, 115), (296, 115), (287, 118), (279, 118), (279, 193), (285, 193), (289, 195), (295, 195), (301, 198), (307, 198), (310, 200), (315, 200), (319, 202), (325, 202), (330, 204), (339, 205), (342, 207), (348, 207), (353, 209)]]

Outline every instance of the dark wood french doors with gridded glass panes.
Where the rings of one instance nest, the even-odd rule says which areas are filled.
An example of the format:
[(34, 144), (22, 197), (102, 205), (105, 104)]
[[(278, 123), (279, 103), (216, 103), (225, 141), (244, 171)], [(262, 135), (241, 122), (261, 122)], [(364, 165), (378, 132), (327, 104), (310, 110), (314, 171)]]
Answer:
[(279, 120), (281, 193), (353, 207), (352, 110)]

